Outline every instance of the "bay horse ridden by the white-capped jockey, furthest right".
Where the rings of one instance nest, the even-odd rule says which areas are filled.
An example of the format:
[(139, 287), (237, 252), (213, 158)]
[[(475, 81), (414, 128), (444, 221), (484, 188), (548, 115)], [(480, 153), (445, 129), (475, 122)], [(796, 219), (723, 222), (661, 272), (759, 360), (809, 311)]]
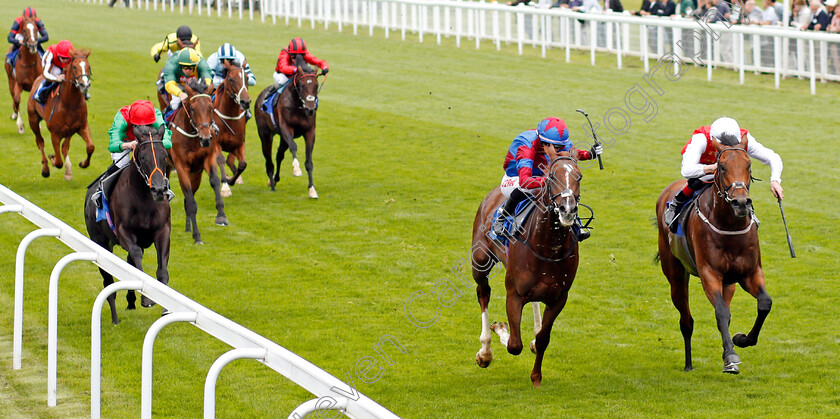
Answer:
[[(738, 374), (741, 359), (733, 344), (745, 348), (758, 341), (772, 300), (764, 287), (758, 225), (752, 215), (750, 199), (750, 158), (746, 136), (735, 145), (712, 141), (717, 151), (718, 167), (714, 186), (697, 198), (696, 207), (686, 205), (688, 214), (685, 244), (671, 233), (663, 221), (666, 203), (685, 184), (680, 180), (668, 185), (656, 201), (659, 229), (658, 259), (662, 272), (671, 284), (671, 301), (680, 312), (680, 331), (685, 342), (685, 371), (691, 363), (691, 334), (694, 318), (688, 307), (689, 274), (699, 276), (706, 298), (715, 308), (717, 327), (723, 340), (723, 372)], [(694, 263), (692, 263), (694, 262)], [(749, 334), (729, 336), (729, 303), (735, 284), (756, 298), (758, 315)]]

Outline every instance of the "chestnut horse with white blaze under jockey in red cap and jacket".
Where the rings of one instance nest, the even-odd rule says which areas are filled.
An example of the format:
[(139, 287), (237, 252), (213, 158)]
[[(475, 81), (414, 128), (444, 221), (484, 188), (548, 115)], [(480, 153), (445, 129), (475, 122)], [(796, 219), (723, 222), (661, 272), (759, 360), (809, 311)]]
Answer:
[[(67, 155), (70, 150), (70, 137), (79, 134), (85, 140), (87, 158), (79, 163), (79, 167), (86, 168), (90, 165), (90, 156), (93, 154), (93, 141), (90, 140), (90, 126), (87, 120), (87, 99), (85, 95), (90, 90), (90, 63), (88, 56), (90, 50), (70, 50), (70, 64), (64, 68), (64, 81), (53, 89), (48, 97), (44, 98), (44, 105), (36, 102), (32, 96), (26, 105), (29, 112), (29, 127), (35, 134), (35, 143), (41, 150), (41, 176), (50, 177), (50, 166), (47, 164), (47, 156), (44, 154), (44, 137), (41, 136), (41, 120), (47, 121), (47, 130), (52, 137), (54, 155), (50, 155), (50, 162), (53, 166), (61, 169), (64, 164), (64, 179), (73, 179), (73, 172), (70, 170), (70, 157)], [(38, 76), (33, 86), (40, 85), (44, 76)], [(62, 138), (64, 141), (62, 142)], [(61, 149), (59, 149), (61, 145)]]

